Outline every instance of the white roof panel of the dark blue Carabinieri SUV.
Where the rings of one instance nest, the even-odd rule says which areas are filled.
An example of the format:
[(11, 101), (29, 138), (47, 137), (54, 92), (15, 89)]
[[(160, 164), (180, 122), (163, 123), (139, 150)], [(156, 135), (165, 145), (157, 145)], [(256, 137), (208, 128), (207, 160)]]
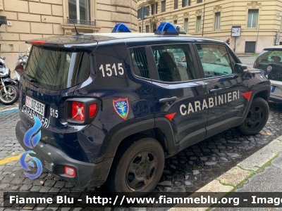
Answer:
[[(32, 41), (43, 41), (44, 44), (32, 43)], [(192, 41), (209, 41), (215, 43), (224, 43), (220, 39), (208, 37), (197, 37), (188, 34), (179, 35), (157, 35), (154, 33), (97, 33), (84, 34), (80, 36), (61, 36), (47, 37), (40, 39), (31, 39), (26, 41), (27, 44), (33, 44), (42, 47), (61, 48), (61, 49), (83, 49), (94, 51), (97, 43), (100, 44), (117, 44), (126, 43), (128, 47), (145, 44), (174, 43), (174, 42), (192, 42)]]

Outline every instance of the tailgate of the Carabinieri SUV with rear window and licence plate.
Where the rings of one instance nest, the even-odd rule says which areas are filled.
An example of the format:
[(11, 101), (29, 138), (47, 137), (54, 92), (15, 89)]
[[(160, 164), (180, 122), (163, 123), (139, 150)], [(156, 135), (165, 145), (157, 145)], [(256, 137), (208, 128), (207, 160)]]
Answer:
[(20, 119), (26, 129), (33, 116), (42, 122), (42, 141), (62, 148), (66, 131), (65, 101), (73, 97), (78, 84), (90, 77), (90, 56), (86, 52), (33, 46), (25, 73), (20, 79)]

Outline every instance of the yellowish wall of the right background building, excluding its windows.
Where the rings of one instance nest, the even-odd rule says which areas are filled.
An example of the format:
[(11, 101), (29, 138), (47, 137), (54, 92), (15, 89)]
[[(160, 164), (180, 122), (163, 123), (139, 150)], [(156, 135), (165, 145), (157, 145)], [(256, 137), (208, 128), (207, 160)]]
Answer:
[[(282, 31), (282, 0), (209, 0), (197, 3), (191, 0), (190, 6), (182, 7), (182, 1), (178, 0), (178, 8), (174, 8), (174, 0), (166, 0), (166, 11), (161, 12), (161, 0), (141, 0), (138, 1), (138, 8), (142, 3), (150, 6), (150, 15), (145, 20), (144, 29), (149, 25), (152, 32), (154, 23), (157, 27), (161, 22), (174, 23), (184, 28), (184, 20), (188, 18), (188, 34), (200, 37), (214, 37), (225, 41), (231, 37), (231, 27), (239, 25), (242, 27), (241, 37), (236, 41), (236, 53), (245, 53), (245, 41), (257, 41), (257, 51), (259, 53), (266, 46), (275, 44), (276, 32)], [(158, 4), (157, 15), (152, 15), (151, 5)], [(247, 28), (247, 13), (249, 9), (258, 9), (259, 17), (257, 28)], [(215, 30), (215, 13), (221, 13), (220, 29)], [(201, 32), (197, 32), (197, 16), (202, 16)], [(138, 19), (138, 27), (142, 27), (142, 20)], [(204, 29), (204, 30), (203, 30)], [(281, 33), (282, 39), (282, 33)], [(231, 38), (231, 47), (234, 49), (235, 38)]]

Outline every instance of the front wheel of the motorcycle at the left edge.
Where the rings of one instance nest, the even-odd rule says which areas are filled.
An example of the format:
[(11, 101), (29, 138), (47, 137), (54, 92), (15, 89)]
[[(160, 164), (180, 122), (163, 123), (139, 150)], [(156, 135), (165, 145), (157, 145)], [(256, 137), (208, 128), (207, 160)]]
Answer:
[(4, 87), (0, 89), (0, 101), (1, 103), (5, 105), (12, 105), (13, 103), (16, 103), (18, 101), (18, 98), (20, 97), (20, 91), (18, 90), (18, 87), (16, 87), (13, 84), (5, 84), (6, 90), (11, 93), (10, 97), (6, 96)]

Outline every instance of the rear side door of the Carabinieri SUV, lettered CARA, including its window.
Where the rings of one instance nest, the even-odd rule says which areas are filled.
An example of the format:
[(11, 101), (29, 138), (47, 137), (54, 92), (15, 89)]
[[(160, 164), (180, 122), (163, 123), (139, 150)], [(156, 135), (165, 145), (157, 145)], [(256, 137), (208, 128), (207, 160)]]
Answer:
[(175, 129), (176, 143), (186, 148), (206, 134), (207, 87), (199, 80), (190, 44), (151, 47), (157, 72), (157, 79), (152, 79), (156, 127), (158, 119), (166, 117)]

